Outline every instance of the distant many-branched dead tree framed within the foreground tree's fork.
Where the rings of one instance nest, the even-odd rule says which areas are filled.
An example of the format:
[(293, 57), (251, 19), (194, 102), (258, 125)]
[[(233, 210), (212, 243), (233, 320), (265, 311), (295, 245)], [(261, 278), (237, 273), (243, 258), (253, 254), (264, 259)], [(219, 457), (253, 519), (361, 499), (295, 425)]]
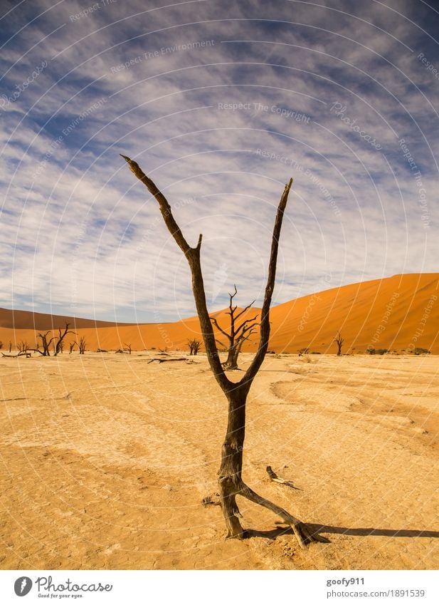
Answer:
[(226, 336), (226, 338), (228, 339), (228, 345), (224, 345), (220, 340), (218, 340), (218, 338), (216, 338), (216, 342), (221, 344), (221, 346), (225, 347), (226, 351), (228, 351), (227, 359), (223, 363), (223, 368), (225, 370), (239, 369), (238, 356), (241, 351), (241, 348), (243, 347), (243, 343), (245, 343), (245, 341), (250, 338), (250, 336), (256, 331), (256, 326), (259, 325), (258, 322), (255, 321), (255, 319), (258, 317), (258, 314), (256, 314), (251, 319), (245, 319), (244, 321), (241, 321), (241, 323), (237, 326), (238, 319), (242, 317), (243, 314), (245, 314), (245, 311), (248, 311), (248, 309), (250, 309), (250, 306), (252, 306), (255, 301), (248, 304), (245, 309), (242, 309), (242, 311), (239, 311), (239, 313), (236, 313), (238, 307), (233, 306), (233, 299), (235, 298), (236, 294), (238, 294), (238, 290), (236, 289), (236, 286), (234, 286), (234, 288), (235, 291), (233, 292), (233, 294), (230, 294), (230, 292), (228, 294), (228, 296), (230, 297), (230, 303), (226, 314), (230, 316), (231, 321), (230, 328), (228, 329), (228, 331), (222, 329), (221, 326), (218, 325), (218, 321), (216, 321), (215, 317), (211, 317), (211, 321), (213, 321), (213, 325), (216, 327), (216, 329), (218, 329), (221, 334), (223, 334), (223, 336)]

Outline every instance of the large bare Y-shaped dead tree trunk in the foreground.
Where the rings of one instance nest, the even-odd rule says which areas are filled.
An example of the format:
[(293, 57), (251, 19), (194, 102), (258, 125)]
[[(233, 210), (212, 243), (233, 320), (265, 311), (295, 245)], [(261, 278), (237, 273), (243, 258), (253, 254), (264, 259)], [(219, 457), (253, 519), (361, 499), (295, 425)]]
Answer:
[(285, 185), (285, 190), (282, 193), (279, 206), (277, 207), (270, 262), (268, 266), (268, 279), (267, 285), (265, 286), (263, 308), (260, 314), (260, 340), (258, 351), (256, 351), (253, 361), (250, 363), (248, 370), (240, 381), (232, 382), (226, 376), (226, 372), (221, 365), (218, 349), (216, 348), (211, 318), (208, 314), (200, 259), (202, 234), (200, 234), (196, 246), (191, 247), (188, 242), (186, 242), (179, 225), (176, 223), (166, 197), (159, 191), (154, 182), (144, 174), (137, 162), (130, 160), (129, 157), (126, 157), (125, 155), (122, 155), (122, 157), (128, 163), (129, 169), (133, 172), (134, 176), (147, 187), (149, 192), (157, 200), (166, 227), (169, 229), (176, 244), (179, 246), (189, 263), (192, 274), (192, 290), (194, 292), (196, 311), (201, 324), (201, 332), (203, 334), (208, 362), (213, 371), (213, 376), (215, 376), (218, 385), (221, 387), (228, 400), (228, 425), (221, 450), (221, 466), (218, 472), (221, 508), (226, 522), (227, 537), (243, 538), (246, 536), (245, 531), (240, 524), (240, 512), (238, 505), (236, 504), (236, 497), (240, 496), (268, 508), (268, 510), (279, 515), (283, 522), (292, 527), (295, 536), (297, 537), (297, 541), (302, 548), (305, 547), (307, 542), (323, 541), (324, 539), (319, 537), (318, 534), (313, 534), (312, 529), (308, 527), (307, 524), (296, 519), (292, 514), (275, 505), (273, 502), (265, 500), (265, 498), (258, 495), (256, 492), (253, 492), (253, 490), (245, 484), (242, 478), (243, 445), (245, 437), (245, 402), (247, 400), (248, 391), (250, 391), (250, 386), (264, 361), (265, 353), (267, 353), (268, 349), (268, 338), (270, 336), (270, 304), (275, 286), (277, 249), (282, 219), (287, 205), (292, 180)]

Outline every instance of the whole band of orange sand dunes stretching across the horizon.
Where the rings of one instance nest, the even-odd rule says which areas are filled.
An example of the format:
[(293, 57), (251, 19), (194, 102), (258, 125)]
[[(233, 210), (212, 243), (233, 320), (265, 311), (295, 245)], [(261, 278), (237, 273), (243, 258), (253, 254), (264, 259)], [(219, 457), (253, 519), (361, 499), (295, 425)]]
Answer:
[[(364, 352), (369, 346), (392, 351), (423, 347), (439, 353), (438, 299), (438, 273), (395, 275), (302, 296), (271, 310), (270, 349), (296, 353), (309, 347), (310, 351), (335, 353), (334, 336), (340, 331), (344, 353)], [(253, 317), (259, 311), (248, 309), (243, 318)], [(228, 326), (226, 310), (213, 316), (221, 326)], [(89, 351), (115, 350), (128, 344), (133, 350), (154, 347), (187, 350), (188, 338), (200, 337), (196, 317), (168, 324), (111, 324), (1, 309), (0, 340), (4, 349), (9, 341), (13, 348), (21, 341), (33, 347), (36, 331), (63, 327), (64, 321), (69, 320), (78, 336), (69, 335), (66, 343), (84, 336)], [(255, 336), (247, 351), (255, 350)], [(219, 333), (218, 338), (221, 339)]]

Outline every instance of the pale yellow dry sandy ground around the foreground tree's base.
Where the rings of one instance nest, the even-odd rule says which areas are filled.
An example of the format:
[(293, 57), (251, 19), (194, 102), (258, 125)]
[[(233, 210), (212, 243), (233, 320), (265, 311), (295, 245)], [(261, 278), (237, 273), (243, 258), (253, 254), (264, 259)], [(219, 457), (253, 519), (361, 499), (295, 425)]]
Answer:
[(254, 535), (224, 540), (201, 499), (225, 400), (204, 356), (151, 355), (0, 360), (1, 569), (439, 568), (438, 357), (267, 358), (243, 475), (323, 526), (330, 542), (302, 551), (242, 499)]

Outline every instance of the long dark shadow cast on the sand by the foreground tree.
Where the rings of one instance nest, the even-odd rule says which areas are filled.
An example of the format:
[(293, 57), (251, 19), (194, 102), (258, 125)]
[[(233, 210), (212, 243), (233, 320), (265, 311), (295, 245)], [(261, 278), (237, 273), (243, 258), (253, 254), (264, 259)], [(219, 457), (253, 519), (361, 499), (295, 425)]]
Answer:
[[(391, 538), (439, 538), (439, 532), (431, 529), (378, 529), (376, 527), (337, 527), (336, 525), (319, 525), (307, 523), (311, 534), (343, 534), (345, 536), (387, 536)], [(260, 537), (275, 540), (280, 536), (293, 534), (291, 527), (276, 527), (265, 532), (257, 529), (246, 529), (246, 537)], [(320, 536), (324, 542), (331, 542), (329, 538)]]

